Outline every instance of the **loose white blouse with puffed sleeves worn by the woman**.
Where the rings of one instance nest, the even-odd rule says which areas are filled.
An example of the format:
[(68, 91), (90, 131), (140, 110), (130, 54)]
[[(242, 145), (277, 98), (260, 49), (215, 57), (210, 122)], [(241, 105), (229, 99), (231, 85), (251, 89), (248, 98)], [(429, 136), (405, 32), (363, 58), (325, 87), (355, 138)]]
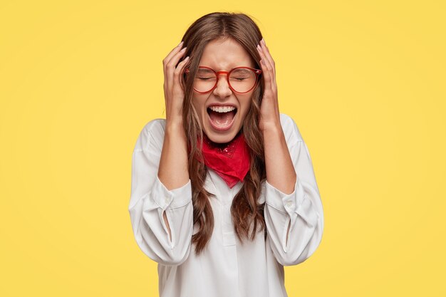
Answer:
[(264, 182), (259, 202), (266, 201), (266, 240), (264, 232), (259, 232), (254, 241), (239, 241), (230, 209), (242, 182), (230, 189), (209, 169), (205, 188), (217, 197), (210, 199), (214, 231), (199, 256), (195, 254), (195, 245), (191, 245), (196, 229), (192, 225), (190, 180), (169, 191), (157, 177), (165, 120), (152, 120), (142, 128), (133, 151), (128, 209), (138, 246), (158, 263), (161, 297), (287, 296), (284, 266), (299, 264), (316, 250), (323, 233), (323, 208), (308, 147), (298, 127), (284, 114), (281, 125), (297, 180), (291, 194)]

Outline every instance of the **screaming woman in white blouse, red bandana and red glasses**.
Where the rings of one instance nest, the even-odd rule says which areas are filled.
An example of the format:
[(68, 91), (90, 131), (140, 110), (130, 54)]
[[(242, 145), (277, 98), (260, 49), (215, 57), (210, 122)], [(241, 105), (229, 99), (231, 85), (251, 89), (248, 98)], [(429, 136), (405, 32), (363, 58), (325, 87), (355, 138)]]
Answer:
[(308, 148), (279, 113), (273, 58), (245, 14), (213, 13), (163, 60), (166, 119), (133, 152), (130, 218), (160, 296), (287, 296), (321, 242)]

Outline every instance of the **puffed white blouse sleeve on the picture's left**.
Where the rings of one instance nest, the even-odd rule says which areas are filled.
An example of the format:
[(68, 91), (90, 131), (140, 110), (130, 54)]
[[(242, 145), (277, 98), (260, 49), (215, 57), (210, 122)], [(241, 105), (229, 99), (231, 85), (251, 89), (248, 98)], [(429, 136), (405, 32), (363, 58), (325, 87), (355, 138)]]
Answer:
[[(168, 190), (158, 179), (165, 120), (147, 123), (136, 141), (132, 157), (130, 221), (140, 249), (164, 265), (182, 264), (189, 256), (193, 230), (190, 180)], [(163, 218), (166, 212), (172, 240)]]

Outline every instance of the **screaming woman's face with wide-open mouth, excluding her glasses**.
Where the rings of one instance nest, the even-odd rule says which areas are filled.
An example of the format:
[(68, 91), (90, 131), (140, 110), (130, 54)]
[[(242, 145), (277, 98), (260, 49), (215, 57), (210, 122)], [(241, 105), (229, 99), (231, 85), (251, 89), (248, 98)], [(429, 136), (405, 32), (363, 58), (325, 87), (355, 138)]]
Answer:
[[(231, 71), (239, 66), (255, 68), (249, 53), (233, 38), (209, 42), (199, 66), (212, 68), (216, 72)], [(194, 90), (192, 95), (192, 105), (197, 110), (204, 134), (217, 143), (233, 140), (242, 129), (254, 92), (253, 88), (248, 93), (234, 93), (226, 78), (227, 74), (221, 73), (214, 90), (209, 93)]]

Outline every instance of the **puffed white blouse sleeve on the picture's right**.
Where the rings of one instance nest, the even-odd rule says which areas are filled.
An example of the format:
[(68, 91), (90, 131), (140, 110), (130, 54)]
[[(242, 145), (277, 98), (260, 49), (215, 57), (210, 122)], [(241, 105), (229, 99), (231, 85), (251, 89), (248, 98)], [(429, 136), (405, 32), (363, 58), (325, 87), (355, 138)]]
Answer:
[(281, 125), (296, 170), (296, 184), (294, 192), (284, 194), (265, 182), (264, 214), (276, 260), (291, 266), (308, 259), (321, 243), (323, 208), (310, 153), (296, 123), (282, 114)]

